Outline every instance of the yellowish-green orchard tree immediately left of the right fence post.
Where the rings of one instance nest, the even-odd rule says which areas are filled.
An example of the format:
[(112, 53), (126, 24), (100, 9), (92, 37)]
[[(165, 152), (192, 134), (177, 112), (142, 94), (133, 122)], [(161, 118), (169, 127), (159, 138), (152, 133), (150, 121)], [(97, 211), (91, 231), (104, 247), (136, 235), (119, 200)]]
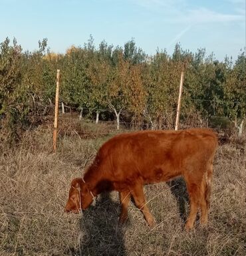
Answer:
[(166, 51), (156, 53), (150, 63), (145, 82), (148, 94), (145, 113), (152, 124), (152, 129), (162, 128), (163, 125), (170, 128), (173, 126), (181, 64), (180, 61), (170, 59)]

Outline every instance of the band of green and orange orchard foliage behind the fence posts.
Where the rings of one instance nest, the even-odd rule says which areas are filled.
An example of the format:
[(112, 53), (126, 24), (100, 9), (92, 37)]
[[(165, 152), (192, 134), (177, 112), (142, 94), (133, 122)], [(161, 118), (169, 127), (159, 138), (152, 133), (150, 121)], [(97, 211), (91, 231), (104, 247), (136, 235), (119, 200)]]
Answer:
[[(123, 48), (105, 41), (97, 48), (92, 36), (83, 47), (72, 46), (64, 55), (51, 53), (47, 39), (39, 41), (37, 51), (23, 53), (15, 39), (11, 45), (7, 38), (0, 44), (0, 114), (15, 130), (14, 126), (28, 124), (26, 117), (47, 113), (46, 106), (55, 103), (59, 68), (60, 99), (67, 106), (87, 108), (89, 114), (126, 110), (130, 122), (173, 128), (184, 70), (182, 120), (195, 116), (202, 122), (219, 116), (237, 125), (246, 111), (245, 60), (243, 51), (233, 64), (227, 57), (222, 62), (213, 54), (206, 57), (205, 49), (184, 51), (180, 44), (173, 55), (164, 50), (148, 57), (134, 39)], [(104, 118), (109, 115), (104, 112)]]

